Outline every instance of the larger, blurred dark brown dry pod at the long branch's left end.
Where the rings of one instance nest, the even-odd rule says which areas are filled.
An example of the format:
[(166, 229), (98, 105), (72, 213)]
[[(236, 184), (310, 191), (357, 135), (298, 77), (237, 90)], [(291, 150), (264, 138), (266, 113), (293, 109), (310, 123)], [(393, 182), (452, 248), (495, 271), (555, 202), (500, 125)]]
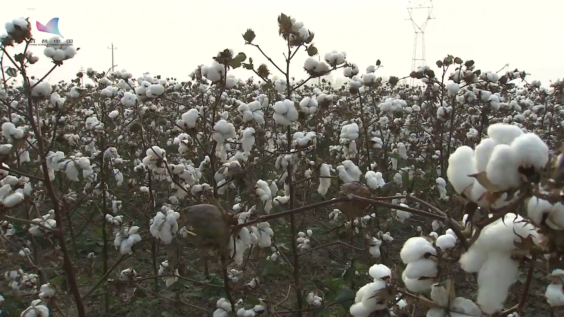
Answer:
[(205, 249), (221, 250), (227, 246), (228, 228), (222, 210), (211, 204), (188, 207), (181, 216), (193, 235), (188, 237)]

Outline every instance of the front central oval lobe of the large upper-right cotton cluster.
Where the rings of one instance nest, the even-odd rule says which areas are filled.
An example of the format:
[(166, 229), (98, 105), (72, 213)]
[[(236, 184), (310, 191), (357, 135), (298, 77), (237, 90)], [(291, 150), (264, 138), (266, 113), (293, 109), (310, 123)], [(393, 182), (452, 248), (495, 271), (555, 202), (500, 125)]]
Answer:
[(486, 174), (490, 182), (502, 191), (518, 187), (521, 184), (518, 169), (518, 154), (507, 144), (497, 144), (486, 166)]

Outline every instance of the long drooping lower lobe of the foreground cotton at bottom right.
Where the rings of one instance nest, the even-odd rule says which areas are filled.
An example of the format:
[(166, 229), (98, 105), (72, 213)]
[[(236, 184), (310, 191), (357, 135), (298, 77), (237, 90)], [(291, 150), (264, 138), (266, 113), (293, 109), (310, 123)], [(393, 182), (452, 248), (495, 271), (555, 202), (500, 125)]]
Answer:
[(510, 253), (491, 252), (478, 271), (477, 303), (486, 314), (503, 310), (509, 287), (517, 281), (519, 263)]

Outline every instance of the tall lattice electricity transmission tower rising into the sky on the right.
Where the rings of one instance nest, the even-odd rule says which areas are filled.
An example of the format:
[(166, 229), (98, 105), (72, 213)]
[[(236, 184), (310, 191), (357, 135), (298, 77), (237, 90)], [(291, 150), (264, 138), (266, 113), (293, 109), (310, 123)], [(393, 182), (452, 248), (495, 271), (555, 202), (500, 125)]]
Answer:
[[(420, 15), (426, 11), (426, 17)], [(413, 25), (415, 37), (413, 38), (413, 57), (411, 59), (411, 71), (416, 71), (418, 66), (425, 66), (425, 28), (429, 20), (435, 19), (431, 16), (433, 11), (432, 0), (410, 0), (407, 5), (409, 20)], [(418, 44), (419, 43), (419, 44)], [(415, 78), (411, 78), (409, 86), (413, 86)]]

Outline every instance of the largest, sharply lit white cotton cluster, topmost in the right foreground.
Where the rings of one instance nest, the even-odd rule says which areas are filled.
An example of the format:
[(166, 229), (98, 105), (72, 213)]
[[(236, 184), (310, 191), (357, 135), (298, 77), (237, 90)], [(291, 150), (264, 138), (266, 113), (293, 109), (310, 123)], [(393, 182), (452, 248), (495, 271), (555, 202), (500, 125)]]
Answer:
[(486, 189), (468, 175), (486, 172), (494, 186), (506, 191), (523, 182), (519, 166), (540, 170), (548, 162), (548, 146), (534, 133), (523, 133), (517, 126), (501, 123), (490, 125), (487, 133), (490, 138), (482, 139), (475, 149), (457, 148), (448, 158), (447, 169), (455, 191), (481, 207), (487, 206), (487, 201), (481, 199)]

